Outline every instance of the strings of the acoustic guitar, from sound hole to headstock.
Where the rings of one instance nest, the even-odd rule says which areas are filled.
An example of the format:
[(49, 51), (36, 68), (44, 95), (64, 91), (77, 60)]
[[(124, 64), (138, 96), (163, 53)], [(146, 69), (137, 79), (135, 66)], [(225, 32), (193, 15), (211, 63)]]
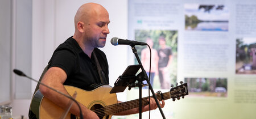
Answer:
[[(184, 87), (183, 87), (183, 88), (184, 88)], [(168, 97), (171, 98), (171, 95), (172, 95), (172, 94), (174, 94), (174, 93), (177, 92), (177, 91), (182, 90), (183, 88), (180, 88), (179, 90), (175, 90), (175, 91), (172, 91), (172, 92), (170, 91), (170, 93), (168, 93), (168, 92), (167, 92), (167, 93), (164, 93), (164, 94), (163, 94), (164, 99), (166, 99), (166, 97), (167, 97), (167, 98), (168, 98)], [(151, 97), (152, 97), (152, 96), (151, 96)], [(156, 95), (156, 97), (157, 97), (158, 99), (161, 98), (160, 94)], [(169, 98), (169, 99), (170, 99), (170, 98)], [(144, 97), (144, 98), (142, 99), (142, 105), (143, 105), (143, 106), (148, 104), (148, 101), (147, 101), (146, 99), (147, 99), (147, 97)], [(108, 116), (108, 115), (110, 115), (110, 114), (122, 112), (123, 110), (124, 110), (124, 111), (127, 111), (127, 110), (129, 110), (129, 109), (137, 108), (138, 105), (137, 105), (136, 102), (134, 103), (134, 101), (138, 101), (138, 100), (139, 100), (139, 99), (137, 99), (137, 100), (131, 100), (131, 101), (123, 102), (123, 103), (117, 103), (117, 104), (109, 105), (109, 106), (106, 106), (106, 107), (103, 107), (103, 108), (100, 108), (100, 109), (95, 109), (95, 110), (93, 110), (93, 112), (97, 113), (98, 116), (101, 117), (101, 116)], [(119, 105), (119, 106), (117, 107), (117, 105)], [(120, 106), (120, 105), (121, 105), (121, 106)], [(105, 111), (105, 110), (106, 110), (106, 111)]]

